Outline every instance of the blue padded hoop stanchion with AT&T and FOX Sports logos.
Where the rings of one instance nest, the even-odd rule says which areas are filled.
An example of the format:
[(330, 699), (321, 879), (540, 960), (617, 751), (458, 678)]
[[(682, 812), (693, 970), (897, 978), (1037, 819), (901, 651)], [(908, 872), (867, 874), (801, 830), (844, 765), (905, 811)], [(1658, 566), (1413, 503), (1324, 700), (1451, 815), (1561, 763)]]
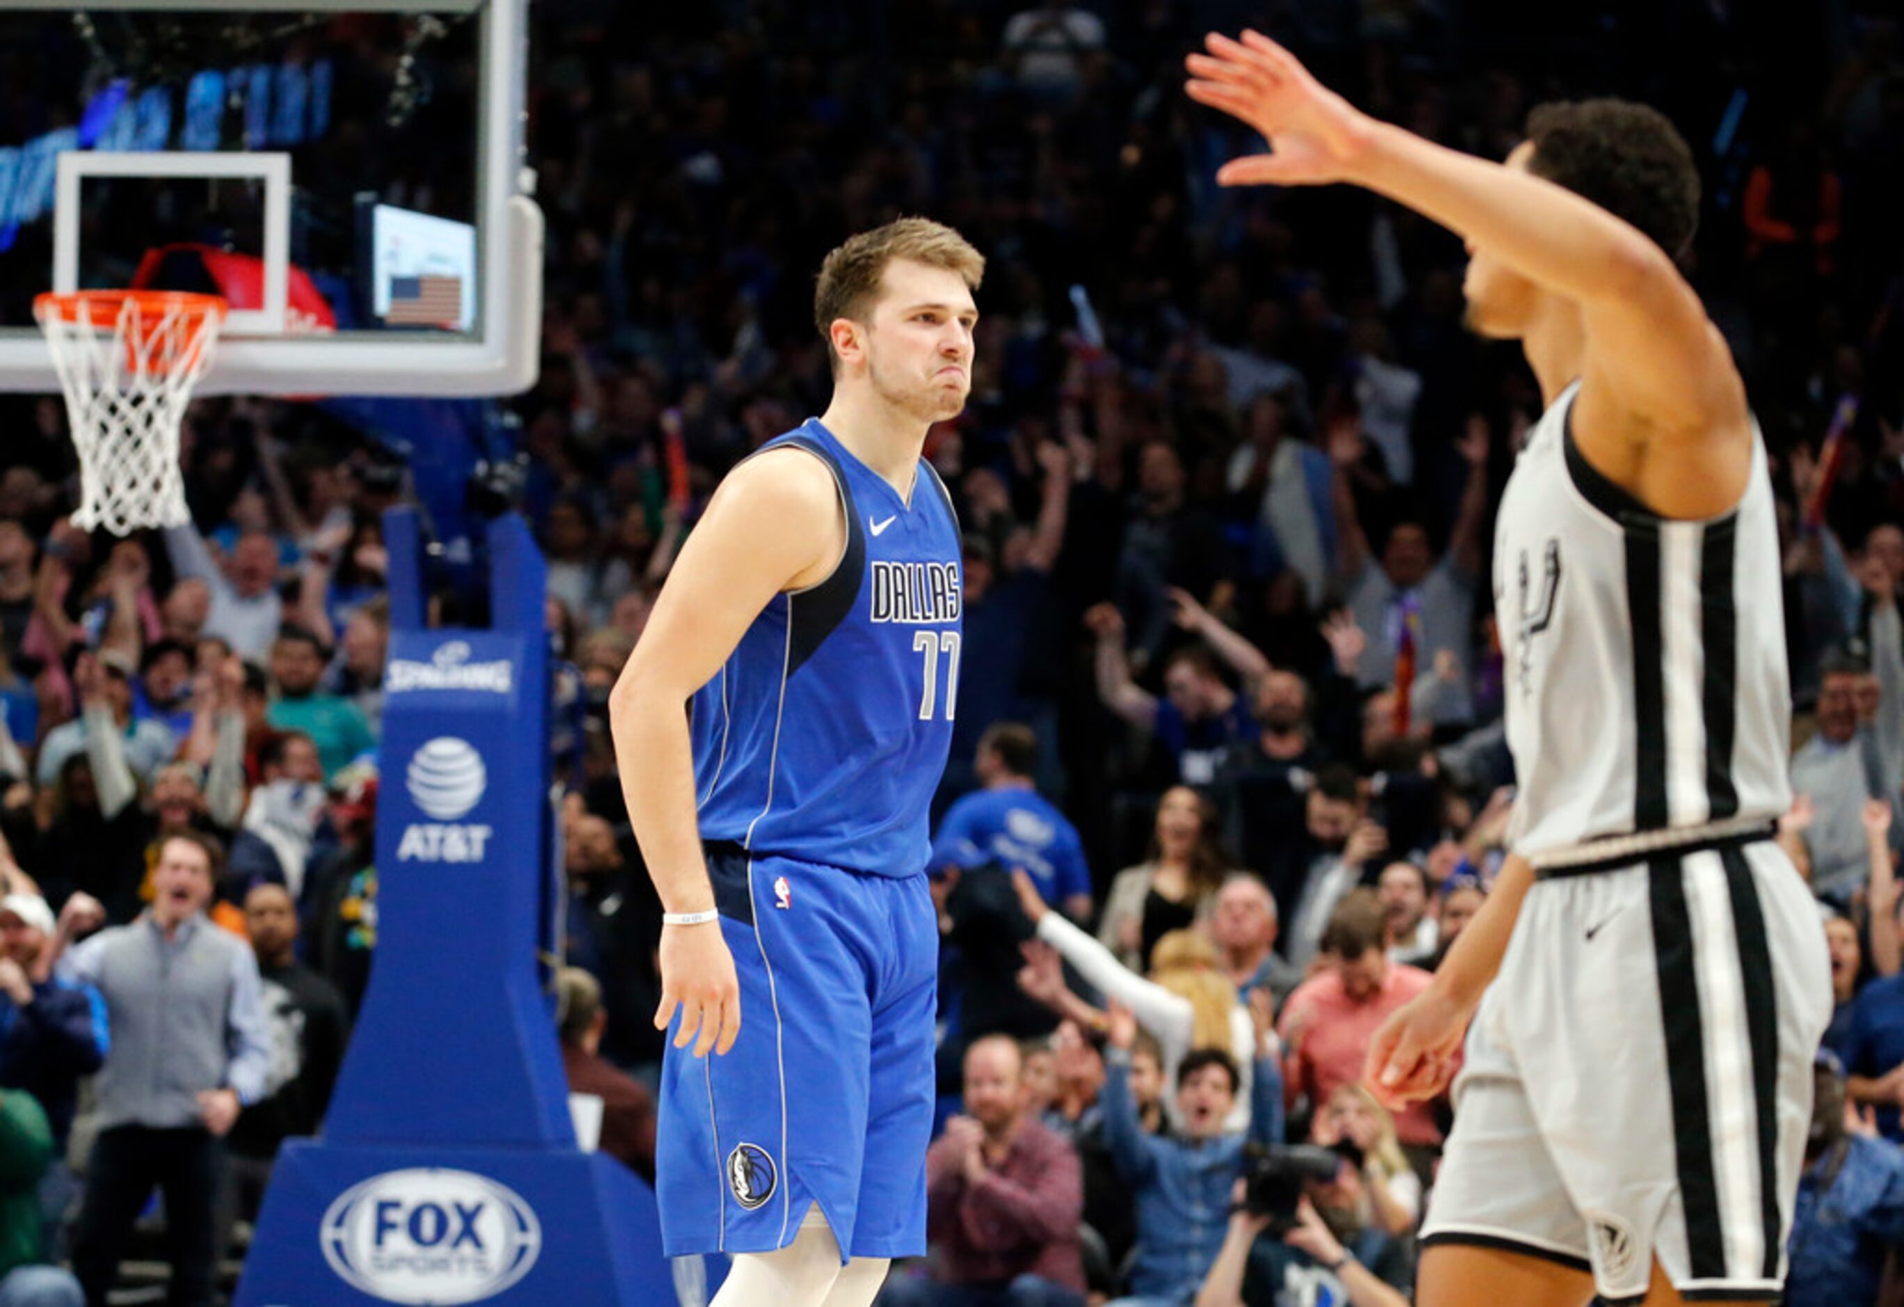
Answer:
[(417, 524), (385, 520), (392, 633), (377, 956), (324, 1134), (286, 1145), (240, 1307), (668, 1303), (653, 1191), (575, 1145), (546, 993), (545, 568), (489, 524), (489, 631), (425, 629)]

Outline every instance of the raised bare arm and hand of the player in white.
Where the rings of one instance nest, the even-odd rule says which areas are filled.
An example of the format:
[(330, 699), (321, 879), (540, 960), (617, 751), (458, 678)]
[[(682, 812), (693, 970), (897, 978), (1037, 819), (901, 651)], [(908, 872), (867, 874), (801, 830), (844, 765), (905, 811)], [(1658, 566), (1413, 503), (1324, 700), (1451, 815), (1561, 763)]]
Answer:
[(1586, 330), (1575, 434), (1588, 459), (1674, 516), (1736, 501), (1752, 450), (1744, 385), (1698, 295), (1643, 232), (1523, 168), (1369, 118), (1257, 32), (1211, 34), (1209, 53), (1188, 67), (1192, 99), (1274, 147), (1224, 164), (1220, 183), (1365, 187), (1573, 301)]

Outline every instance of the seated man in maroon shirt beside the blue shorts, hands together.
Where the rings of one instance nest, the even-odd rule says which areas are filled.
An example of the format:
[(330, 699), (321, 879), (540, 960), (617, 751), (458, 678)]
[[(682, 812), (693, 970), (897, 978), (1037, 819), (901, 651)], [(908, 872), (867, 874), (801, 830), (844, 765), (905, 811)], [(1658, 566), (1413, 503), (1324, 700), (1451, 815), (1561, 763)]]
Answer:
[(925, 1155), (935, 1278), (895, 1278), (880, 1307), (1083, 1307), (1078, 1155), (1032, 1118), (1015, 1040), (965, 1050), (965, 1111)]

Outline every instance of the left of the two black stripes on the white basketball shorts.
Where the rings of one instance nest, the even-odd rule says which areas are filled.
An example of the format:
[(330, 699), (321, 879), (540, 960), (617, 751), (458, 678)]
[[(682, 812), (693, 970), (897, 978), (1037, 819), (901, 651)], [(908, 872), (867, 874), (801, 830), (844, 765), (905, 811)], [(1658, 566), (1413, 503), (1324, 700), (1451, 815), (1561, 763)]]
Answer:
[(1679, 1204), (1695, 1280), (1725, 1278), (1725, 1225), (1712, 1164), (1712, 1107), (1706, 1097), (1706, 1029), (1698, 1012), (1693, 918), (1677, 855), (1647, 865), (1653, 905), (1653, 955), (1666, 1033), (1666, 1080), (1672, 1094)]

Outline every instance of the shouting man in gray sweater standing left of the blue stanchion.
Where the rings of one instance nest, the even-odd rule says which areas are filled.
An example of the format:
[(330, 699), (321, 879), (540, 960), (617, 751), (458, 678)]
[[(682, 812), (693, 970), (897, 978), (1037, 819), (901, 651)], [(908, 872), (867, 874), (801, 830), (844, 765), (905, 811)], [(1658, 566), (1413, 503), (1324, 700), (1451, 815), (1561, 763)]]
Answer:
[(152, 873), (152, 907), (103, 930), (61, 962), (107, 1000), (112, 1044), (99, 1071), (99, 1139), (72, 1269), (99, 1307), (152, 1185), (166, 1193), (173, 1307), (209, 1307), (211, 1204), (225, 1132), (268, 1092), (270, 1044), (257, 958), (206, 918), (223, 850), (209, 836), (169, 836)]

